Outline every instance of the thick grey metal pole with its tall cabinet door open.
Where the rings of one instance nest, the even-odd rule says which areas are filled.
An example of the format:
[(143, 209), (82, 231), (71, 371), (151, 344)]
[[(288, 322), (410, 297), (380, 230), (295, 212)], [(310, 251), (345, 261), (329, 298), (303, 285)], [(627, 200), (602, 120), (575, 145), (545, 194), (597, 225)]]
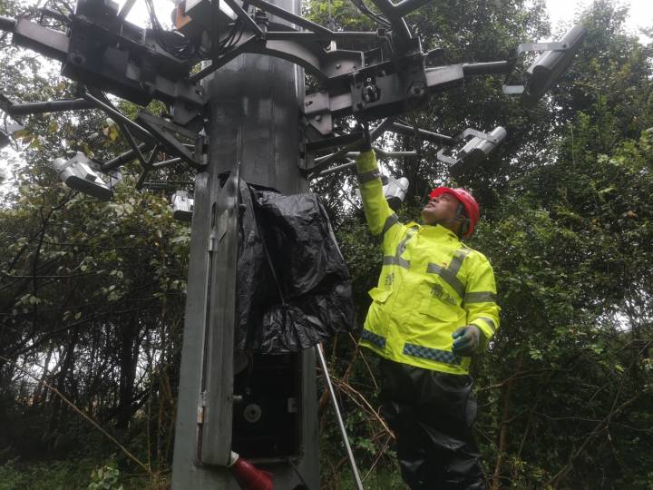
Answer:
[[(276, 4), (299, 12), (299, 0), (278, 0)], [(173, 490), (236, 490), (239, 486), (225, 467), (224, 456), (230, 456), (237, 436), (232, 411), (237, 413), (241, 407), (234, 398), (238, 369), (234, 368), (233, 338), (224, 332), (226, 328), (217, 328), (211, 313), (214, 308), (223, 311), (217, 298), (226, 294), (235, 270), (220, 269), (223, 266), (213, 250), (229, 240), (230, 231), (224, 236), (218, 231), (216, 236), (213, 223), (219, 225), (224, 214), (219, 212), (225, 191), (222, 177), (237, 162), (244, 181), (284, 193), (307, 191), (307, 181), (298, 167), (304, 73), (278, 58), (243, 54), (202, 83), (208, 99), (209, 164), (197, 174), (193, 196), (171, 486)], [(225, 188), (228, 186), (229, 181)], [(295, 420), (300, 426), (298, 454), (289, 462), (279, 458), (268, 464), (252, 462), (274, 474), (275, 488), (291, 489), (306, 482), (309, 490), (319, 490), (315, 351), (293, 355), (292, 366), (296, 368), (289, 375), (297, 379), (301, 398), (288, 398), (287, 406), (288, 413), (297, 413)], [(209, 373), (208, 382), (202, 373)]]

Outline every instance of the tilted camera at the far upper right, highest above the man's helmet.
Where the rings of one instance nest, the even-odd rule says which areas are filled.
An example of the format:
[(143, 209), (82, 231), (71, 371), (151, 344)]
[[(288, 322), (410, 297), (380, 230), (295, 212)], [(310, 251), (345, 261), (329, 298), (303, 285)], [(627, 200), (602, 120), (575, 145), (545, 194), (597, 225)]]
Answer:
[(527, 106), (534, 105), (551, 85), (558, 81), (580, 49), (585, 34), (587, 31), (581, 25), (572, 27), (560, 39), (564, 50), (545, 51), (535, 60), (535, 63), (531, 64), (531, 67), (526, 70), (527, 80), (524, 83), (524, 91), (521, 93), (522, 103)]

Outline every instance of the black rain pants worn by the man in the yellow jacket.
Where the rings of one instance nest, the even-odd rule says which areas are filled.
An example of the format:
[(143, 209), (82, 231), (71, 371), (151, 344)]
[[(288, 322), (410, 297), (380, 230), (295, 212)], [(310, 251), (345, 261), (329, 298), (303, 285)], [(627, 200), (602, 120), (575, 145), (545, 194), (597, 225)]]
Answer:
[(381, 414), (412, 490), (485, 488), (473, 440), (472, 377), (381, 359)]

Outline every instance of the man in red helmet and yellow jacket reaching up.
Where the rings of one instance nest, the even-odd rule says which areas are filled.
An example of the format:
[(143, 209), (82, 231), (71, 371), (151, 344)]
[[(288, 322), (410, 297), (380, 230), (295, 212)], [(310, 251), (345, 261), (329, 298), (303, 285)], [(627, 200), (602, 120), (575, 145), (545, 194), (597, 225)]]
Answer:
[(473, 234), (478, 203), (468, 191), (438, 187), (424, 225), (400, 223), (364, 133), (356, 173), (384, 259), (359, 342), (381, 357), (381, 413), (402, 477), (412, 490), (484, 488), (469, 368), (499, 327), (500, 308), (490, 262), (461, 241)]

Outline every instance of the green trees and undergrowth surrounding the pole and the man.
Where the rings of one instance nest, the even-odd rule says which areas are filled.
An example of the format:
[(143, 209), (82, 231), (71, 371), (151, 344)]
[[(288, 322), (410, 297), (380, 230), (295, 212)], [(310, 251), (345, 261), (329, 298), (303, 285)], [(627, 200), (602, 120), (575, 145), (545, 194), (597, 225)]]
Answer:
[[(15, 16), (23, 4), (5, 0), (0, 15)], [(324, 24), (370, 26), (337, 0), (308, 12)], [(457, 182), (481, 202), (484, 220), (470, 245), (492, 260), (502, 306), (502, 327), (473, 367), (492, 488), (653, 488), (653, 45), (624, 29), (625, 15), (609, 0), (582, 13), (585, 46), (534, 111), (487, 77), (411, 116), (438, 132), (501, 124), (510, 134)], [(442, 47), (441, 61), (452, 63), (490, 61), (550, 31), (543, 5), (522, 0), (437, 2), (409, 22), (426, 49)], [(5, 93), (68, 93), (66, 81), (40, 74), (40, 59), (7, 44), (0, 36)], [(100, 113), (34, 116), (21, 134), (25, 163), (15, 162), (16, 178), (3, 188), (2, 489), (165, 487), (189, 229), (172, 220), (166, 191), (134, 190), (135, 164), (111, 203), (67, 190), (49, 165), (65, 151), (120, 152), (117, 136)], [(449, 178), (436, 148), (421, 150), (418, 161), (387, 165), (412, 184), (404, 219), (416, 218), (426, 191)], [(380, 254), (360, 211), (343, 205), (356, 203), (351, 187), (342, 176), (314, 183), (362, 321)], [(375, 358), (356, 338), (336, 338), (326, 350), (366, 487), (401, 488), (392, 435), (376, 414)], [(320, 417), (323, 484), (351, 488), (326, 397)]]

